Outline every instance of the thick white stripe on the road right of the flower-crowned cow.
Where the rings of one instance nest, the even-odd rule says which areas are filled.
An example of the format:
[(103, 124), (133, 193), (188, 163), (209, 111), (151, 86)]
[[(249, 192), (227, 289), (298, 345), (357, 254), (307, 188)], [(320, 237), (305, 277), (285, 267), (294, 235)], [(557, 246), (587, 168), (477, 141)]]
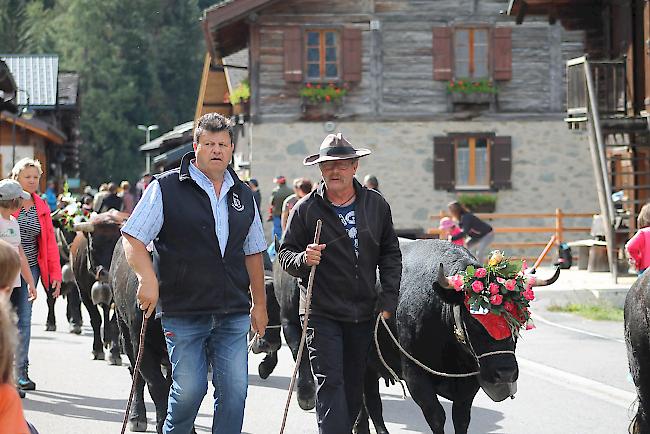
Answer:
[(522, 372), (549, 381), (558, 386), (593, 396), (611, 404), (629, 409), (636, 400), (636, 394), (580, 375), (517, 357)]

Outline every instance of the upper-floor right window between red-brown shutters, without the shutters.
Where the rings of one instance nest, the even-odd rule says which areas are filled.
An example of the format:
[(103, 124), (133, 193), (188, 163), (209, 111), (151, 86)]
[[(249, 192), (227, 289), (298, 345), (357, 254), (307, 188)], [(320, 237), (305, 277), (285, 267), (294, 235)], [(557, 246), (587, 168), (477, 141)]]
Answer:
[(489, 77), (488, 36), (488, 29), (456, 29), (454, 32), (456, 78)]

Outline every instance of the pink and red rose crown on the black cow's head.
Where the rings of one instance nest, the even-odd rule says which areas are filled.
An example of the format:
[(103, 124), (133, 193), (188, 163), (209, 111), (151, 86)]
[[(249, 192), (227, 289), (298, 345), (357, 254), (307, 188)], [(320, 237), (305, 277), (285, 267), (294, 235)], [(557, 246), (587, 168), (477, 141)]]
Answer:
[[(521, 328), (535, 327), (528, 310), (530, 302), (535, 299), (532, 289), (535, 277), (524, 274), (525, 271), (526, 261), (506, 258), (502, 251), (494, 250), (485, 266), (475, 268), (470, 265), (465, 271), (450, 277), (449, 281), (456, 291), (465, 292), (465, 305), (475, 318), (484, 323), (490, 334), (504, 338), (510, 333), (517, 334)], [(502, 324), (501, 332), (488, 327), (487, 322), (492, 323), (491, 326), (497, 325), (494, 320)]]

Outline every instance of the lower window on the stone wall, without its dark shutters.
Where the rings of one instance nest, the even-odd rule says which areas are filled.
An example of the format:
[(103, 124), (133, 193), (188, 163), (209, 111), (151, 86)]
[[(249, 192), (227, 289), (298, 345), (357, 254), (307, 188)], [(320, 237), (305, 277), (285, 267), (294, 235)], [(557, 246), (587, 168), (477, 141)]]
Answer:
[(456, 187), (490, 186), (490, 149), (487, 137), (454, 139)]

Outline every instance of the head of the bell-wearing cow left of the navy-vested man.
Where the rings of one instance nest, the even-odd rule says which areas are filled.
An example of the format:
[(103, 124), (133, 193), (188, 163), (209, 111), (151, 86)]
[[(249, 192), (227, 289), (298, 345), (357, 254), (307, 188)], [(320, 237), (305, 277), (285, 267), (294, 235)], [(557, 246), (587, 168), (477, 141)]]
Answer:
[[(108, 285), (108, 270), (111, 266), (113, 250), (127, 217), (128, 214), (109, 211), (98, 214), (87, 222), (74, 225), (75, 231), (82, 232), (88, 240), (88, 272), (101, 284)], [(96, 289), (99, 290), (99, 286)]]

